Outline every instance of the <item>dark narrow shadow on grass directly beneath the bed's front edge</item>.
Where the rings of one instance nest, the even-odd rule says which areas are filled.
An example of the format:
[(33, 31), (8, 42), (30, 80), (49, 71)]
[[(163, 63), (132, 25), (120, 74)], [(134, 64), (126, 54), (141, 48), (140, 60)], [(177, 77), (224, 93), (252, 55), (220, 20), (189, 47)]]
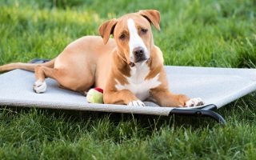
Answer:
[(42, 109), (42, 108), (29, 108), (18, 106), (2, 106), (6, 114), (13, 116), (18, 114), (29, 114), (37, 112), (38, 114), (46, 114), (47, 117), (63, 118), (64, 122), (84, 122), (88, 119), (91, 120), (104, 120), (109, 119), (118, 126), (119, 122), (136, 121), (142, 128), (149, 131), (159, 130), (162, 126), (174, 127), (190, 127), (196, 129), (198, 127), (214, 126), (218, 124), (215, 120), (206, 117), (193, 117), (193, 116), (157, 116), (145, 114), (120, 114), (120, 113), (106, 113), (106, 112), (92, 112), (92, 111), (79, 111), (79, 110), (56, 110), (56, 109)]

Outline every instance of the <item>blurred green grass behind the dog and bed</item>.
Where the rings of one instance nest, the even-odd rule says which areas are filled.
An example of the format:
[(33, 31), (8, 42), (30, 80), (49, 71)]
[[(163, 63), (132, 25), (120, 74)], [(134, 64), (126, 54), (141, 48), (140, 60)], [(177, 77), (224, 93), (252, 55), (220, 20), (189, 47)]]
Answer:
[(0, 6), (1, 64), (53, 58), (74, 39), (98, 34), (102, 22), (144, 9), (162, 14), (154, 42), (166, 65), (253, 67), (256, 62), (252, 0), (2, 0)]

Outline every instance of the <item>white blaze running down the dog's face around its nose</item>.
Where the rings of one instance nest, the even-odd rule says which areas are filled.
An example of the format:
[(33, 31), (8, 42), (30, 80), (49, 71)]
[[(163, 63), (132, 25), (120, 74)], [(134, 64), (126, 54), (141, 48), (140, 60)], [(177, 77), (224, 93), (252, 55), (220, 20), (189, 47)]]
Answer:
[(133, 50), (136, 47), (142, 47), (144, 50), (144, 54), (146, 58), (149, 58), (149, 52), (144, 44), (144, 42), (142, 41), (142, 38), (139, 37), (138, 35), (138, 30), (136, 29), (134, 20), (132, 18), (129, 18), (127, 20), (128, 22), (128, 30), (129, 30), (129, 34), (130, 34), (130, 39), (129, 39), (129, 49), (130, 49), (130, 62), (134, 62), (134, 54), (133, 54)]

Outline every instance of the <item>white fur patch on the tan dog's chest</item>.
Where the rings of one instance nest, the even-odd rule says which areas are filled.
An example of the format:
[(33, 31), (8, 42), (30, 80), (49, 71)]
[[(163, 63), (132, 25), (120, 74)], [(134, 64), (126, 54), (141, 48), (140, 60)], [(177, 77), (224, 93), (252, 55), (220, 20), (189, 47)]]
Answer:
[(129, 84), (121, 85), (120, 82), (117, 82), (115, 87), (117, 90), (130, 90), (137, 98), (141, 101), (146, 100), (150, 96), (150, 89), (153, 89), (161, 84), (158, 81), (159, 74), (154, 78), (145, 80), (147, 74), (150, 73), (150, 68), (146, 65), (144, 66), (135, 66), (131, 68), (131, 76), (126, 77)]

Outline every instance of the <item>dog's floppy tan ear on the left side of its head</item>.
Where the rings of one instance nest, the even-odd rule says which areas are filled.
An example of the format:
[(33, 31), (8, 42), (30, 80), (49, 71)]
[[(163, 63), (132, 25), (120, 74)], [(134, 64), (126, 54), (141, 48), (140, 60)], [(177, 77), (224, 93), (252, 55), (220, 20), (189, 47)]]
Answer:
[(98, 27), (98, 33), (102, 36), (104, 44), (109, 41), (110, 34), (114, 33), (114, 26), (117, 24), (118, 20), (116, 18), (110, 19)]

